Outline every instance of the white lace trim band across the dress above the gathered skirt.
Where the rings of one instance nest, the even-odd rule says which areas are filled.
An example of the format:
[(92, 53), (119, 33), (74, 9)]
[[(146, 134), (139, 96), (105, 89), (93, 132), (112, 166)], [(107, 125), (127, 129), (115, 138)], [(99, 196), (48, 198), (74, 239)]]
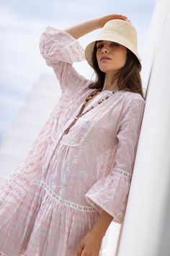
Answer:
[(55, 199), (56, 201), (60, 202), (63, 205), (66, 205), (66, 206), (71, 207), (71, 208), (76, 209), (76, 210), (81, 210), (83, 212), (96, 212), (97, 211), (93, 207), (89, 207), (89, 206), (86, 206), (86, 205), (79, 205), (79, 204), (76, 204), (75, 202), (71, 202), (71, 201), (63, 199), (59, 195), (55, 194), (53, 192), (53, 190), (50, 189), (50, 187), (48, 187), (47, 184), (45, 184), (45, 182), (35, 180), (34, 183), (40, 185), (43, 188), (45, 188), (45, 190), (48, 192), (48, 195), (50, 195), (50, 197), (53, 197), (53, 199)]

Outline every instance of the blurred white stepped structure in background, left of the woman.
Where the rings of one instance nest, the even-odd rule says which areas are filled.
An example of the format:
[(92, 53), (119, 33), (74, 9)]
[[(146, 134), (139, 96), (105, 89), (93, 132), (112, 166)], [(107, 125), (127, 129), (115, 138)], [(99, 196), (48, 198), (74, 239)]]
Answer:
[(0, 184), (14, 171), (58, 102), (61, 88), (55, 75), (42, 74), (27, 95), (0, 148)]

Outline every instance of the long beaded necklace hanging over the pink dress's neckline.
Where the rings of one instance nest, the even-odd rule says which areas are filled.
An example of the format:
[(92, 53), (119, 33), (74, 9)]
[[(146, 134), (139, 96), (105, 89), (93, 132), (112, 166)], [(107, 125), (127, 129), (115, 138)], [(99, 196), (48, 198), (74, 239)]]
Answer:
[(94, 96), (97, 94), (98, 91), (101, 91), (102, 89), (96, 89), (94, 90), (92, 93), (90, 93), (87, 97), (86, 100), (84, 101), (83, 105), (81, 106), (81, 109), (79, 111), (79, 114), (77, 114), (76, 118), (73, 119), (73, 121), (71, 122), (71, 124), (68, 126), (67, 129), (65, 129), (64, 133), (67, 134), (69, 132), (69, 130), (71, 129), (71, 127), (73, 127), (73, 125), (76, 123), (76, 121), (81, 117), (84, 116), (84, 114), (86, 114), (87, 112), (91, 111), (91, 109), (95, 108), (95, 106), (103, 103), (104, 101), (107, 100), (107, 98), (109, 98), (112, 94), (114, 94), (115, 92), (117, 92), (117, 90), (120, 89), (116, 89), (116, 90), (112, 90), (110, 95), (107, 95), (107, 97), (105, 98), (101, 98), (97, 103), (95, 103), (94, 105), (92, 105), (90, 108), (88, 108), (84, 113), (82, 113), (84, 111), (84, 108), (86, 106), (86, 103)]

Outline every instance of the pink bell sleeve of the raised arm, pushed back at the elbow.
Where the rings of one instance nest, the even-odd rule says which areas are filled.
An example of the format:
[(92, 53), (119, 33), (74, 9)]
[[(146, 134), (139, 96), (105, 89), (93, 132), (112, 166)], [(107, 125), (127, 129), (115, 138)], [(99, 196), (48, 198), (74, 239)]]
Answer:
[(73, 62), (86, 60), (84, 48), (65, 30), (46, 27), (40, 36), (40, 54), (53, 68), (63, 93), (76, 93), (89, 81), (73, 67)]

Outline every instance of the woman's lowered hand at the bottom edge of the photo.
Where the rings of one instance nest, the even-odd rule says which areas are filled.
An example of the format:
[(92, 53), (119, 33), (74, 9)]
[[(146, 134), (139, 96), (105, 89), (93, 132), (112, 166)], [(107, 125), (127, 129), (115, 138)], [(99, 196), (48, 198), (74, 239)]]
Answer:
[(76, 256), (98, 256), (101, 244), (102, 237), (89, 232), (79, 244)]

